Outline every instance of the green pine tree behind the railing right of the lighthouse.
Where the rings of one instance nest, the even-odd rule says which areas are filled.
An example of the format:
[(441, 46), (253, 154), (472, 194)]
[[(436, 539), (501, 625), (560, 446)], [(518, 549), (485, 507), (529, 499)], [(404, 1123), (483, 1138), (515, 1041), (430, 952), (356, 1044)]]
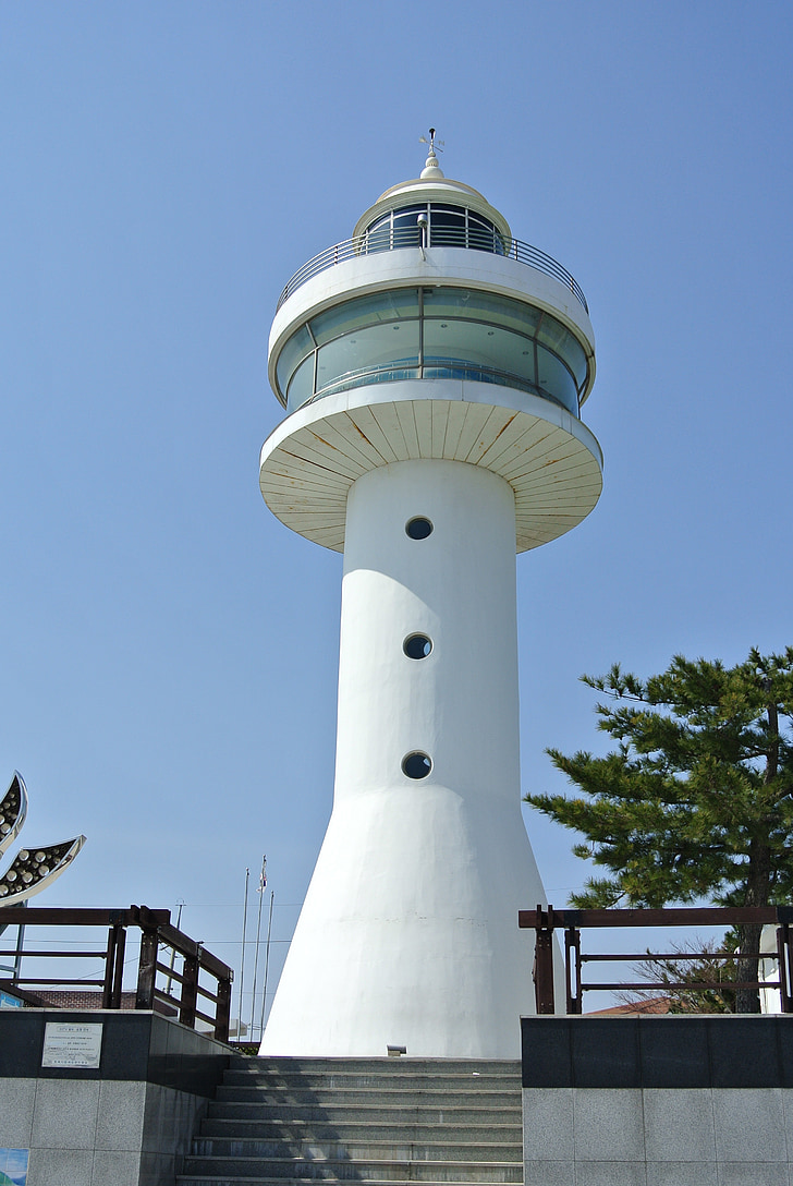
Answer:
[[(583, 796), (526, 802), (587, 837), (573, 852), (609, 871), (571, 905), (725, 906), (793, 899), (793, 648), (752, 650), (744, 663), (676, 656), (642, 682), (615, 664), (582, 676), (609, 697), (597, 727), (615, 742), (605, 758), (549, 750)], [(740, 930), (738, 981), (756, 980), (760, 927)], [(760, 1008), (738, 990), (738, 1012)]]

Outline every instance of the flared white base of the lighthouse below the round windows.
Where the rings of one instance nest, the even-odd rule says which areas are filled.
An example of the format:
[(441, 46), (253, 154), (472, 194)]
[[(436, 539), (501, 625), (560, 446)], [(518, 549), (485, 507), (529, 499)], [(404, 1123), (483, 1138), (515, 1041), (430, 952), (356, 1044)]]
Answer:
[[(351, 878), (334, 853), (352, 837)], [(436, 786), (337, 808), (261, 1053), (518, 1057), (533, 942), (517, 914), (543, 900), (517, 806), (472, 810)]]

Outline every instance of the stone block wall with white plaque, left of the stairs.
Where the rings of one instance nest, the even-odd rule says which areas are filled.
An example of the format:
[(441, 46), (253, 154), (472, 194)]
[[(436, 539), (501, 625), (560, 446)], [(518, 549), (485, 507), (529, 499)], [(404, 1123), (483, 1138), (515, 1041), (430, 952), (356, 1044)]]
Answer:
[[(103, 1024), (98, 1070), (41, 1066), (46, 1021)], [(229, 1048), (154, 1013), (0, 1013), (0, 1148), (27, 1186), (173, 1186)]]

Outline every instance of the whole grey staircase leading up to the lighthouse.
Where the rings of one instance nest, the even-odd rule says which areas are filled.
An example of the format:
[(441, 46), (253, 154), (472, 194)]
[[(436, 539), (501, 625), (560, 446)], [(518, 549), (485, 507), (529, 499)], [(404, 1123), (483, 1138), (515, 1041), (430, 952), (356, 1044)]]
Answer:
[(523, 1182), (520, 1064), (235, 1057), (179, 1186)]

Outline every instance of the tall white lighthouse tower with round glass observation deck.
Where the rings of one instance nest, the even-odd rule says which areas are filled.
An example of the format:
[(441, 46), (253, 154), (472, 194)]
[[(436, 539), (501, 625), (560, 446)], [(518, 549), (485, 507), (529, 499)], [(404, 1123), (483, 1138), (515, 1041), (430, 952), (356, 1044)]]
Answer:
[(344, 579), (333, 812), (262, 1054), (514, 1058), (533, 1012), (514, 557), (600, 496), (594, 337), (433, 136), (270, 333), (262, 493)]

